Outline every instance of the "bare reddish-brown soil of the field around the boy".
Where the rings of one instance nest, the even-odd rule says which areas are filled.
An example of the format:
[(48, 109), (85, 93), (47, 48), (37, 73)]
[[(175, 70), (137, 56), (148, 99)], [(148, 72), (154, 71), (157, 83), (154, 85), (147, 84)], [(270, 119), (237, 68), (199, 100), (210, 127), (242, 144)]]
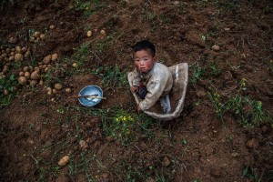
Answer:
[[(131, 45), (148, 38), (165, 65), (187, 62), (189, 79), (196, 66), (206, 71), (188, 84), (181, 116), (154, 120), (152, 139), (139, 137), (127, 145), (106, 136), (102, 114), (90, 115), (93, 108), (69, 96), (87, 85), (100, 86), (107, 99), (95, 106), (97, 112), (116, 106), (136, 113), (128, 87), (106, 86), (102, 76), (79, 70), (56, 73), (72, 88), (70, 94), (48, 96), (45, 85), (19, 87), (0, 110), (1, 181), (273, 181), (272, 117), (255, 127), (239, 125), (231, 112), (221, 120), (207, 94), (214, 89), (227, 100), (239, 93), (261, 101), (272, 114), (272, 1), (89, 2), (81, 9), (82, 1), (2, 1), (1, 45), (30, 48), (38, 62), (56, 53), (60, 58), (53, 67), (71, 70), (66, 58), (88, 43), (96, 51), (79, 70), (118, 66), (126, 73), (134, 69)], [(45, 39), (30, 42), (33, 30)], [(8, 42), (11, 37), (17, 41)], [(12, 67), (7, 76), (29, 64)], [(221, 72), (212, 72), (213, 64)], [(4, 65), (0, 62), (1, 70)], [(247, 89), (241, 90), (243, 78)], [(69, 165), (59, 167), (66, 155)]]

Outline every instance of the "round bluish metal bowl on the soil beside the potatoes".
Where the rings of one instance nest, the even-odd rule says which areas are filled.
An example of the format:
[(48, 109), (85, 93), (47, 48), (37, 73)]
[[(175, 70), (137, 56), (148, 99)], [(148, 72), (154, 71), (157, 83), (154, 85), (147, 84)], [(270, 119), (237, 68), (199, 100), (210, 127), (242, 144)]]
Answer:
[(96, 106), (101, 101), (101, 98), (92, 98), (88, 96), (103, 97), (103, 91), (98, 86), (86, 86), (78, 93), (78, 96), (86, 96), (78, 98), (78, 101), (83, 106)]

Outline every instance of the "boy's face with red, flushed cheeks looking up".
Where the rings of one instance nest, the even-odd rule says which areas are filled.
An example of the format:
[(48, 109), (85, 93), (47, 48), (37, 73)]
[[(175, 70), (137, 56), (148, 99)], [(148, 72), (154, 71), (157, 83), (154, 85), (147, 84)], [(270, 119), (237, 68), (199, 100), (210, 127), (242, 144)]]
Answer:
[(155, 57), (152, 56), (150, 51), (141, 50), (141, 51), (137, 51), (134, 54), (134, 61), (135, 61), (136, 69), (138, 71), (140, 71), (141, 73), (147, 73), (153, 68)]

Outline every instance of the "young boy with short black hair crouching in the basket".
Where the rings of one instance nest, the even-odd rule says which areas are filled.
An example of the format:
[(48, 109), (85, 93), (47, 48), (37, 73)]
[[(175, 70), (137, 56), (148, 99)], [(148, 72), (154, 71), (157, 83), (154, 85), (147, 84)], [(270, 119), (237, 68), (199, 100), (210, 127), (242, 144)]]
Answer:
[(137, 111), (147, 110), (160, 100), (165, 113), (171, 110), (169, 96), (173, 86), (173, 77), (167, 66), (157, 63), (156, 47), (147, 40), (133, 46), (133, 58), (136, 69), (133, 74), (131, 91), (143, 100), (137, 105)]

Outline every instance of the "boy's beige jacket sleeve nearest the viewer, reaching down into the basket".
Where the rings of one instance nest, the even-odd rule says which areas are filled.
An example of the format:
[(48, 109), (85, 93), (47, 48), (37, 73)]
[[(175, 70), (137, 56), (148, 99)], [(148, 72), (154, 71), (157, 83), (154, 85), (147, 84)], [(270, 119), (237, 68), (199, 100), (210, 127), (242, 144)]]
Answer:
[(167, 85), (167, 79), (164, 80), (152, 80), (147, 83), (147, 95), (145, 99), (139, 103), (142, 110), (147, 110), (151, 106), (157, 103), (157, 100), (162, 95), (165, 86)]

